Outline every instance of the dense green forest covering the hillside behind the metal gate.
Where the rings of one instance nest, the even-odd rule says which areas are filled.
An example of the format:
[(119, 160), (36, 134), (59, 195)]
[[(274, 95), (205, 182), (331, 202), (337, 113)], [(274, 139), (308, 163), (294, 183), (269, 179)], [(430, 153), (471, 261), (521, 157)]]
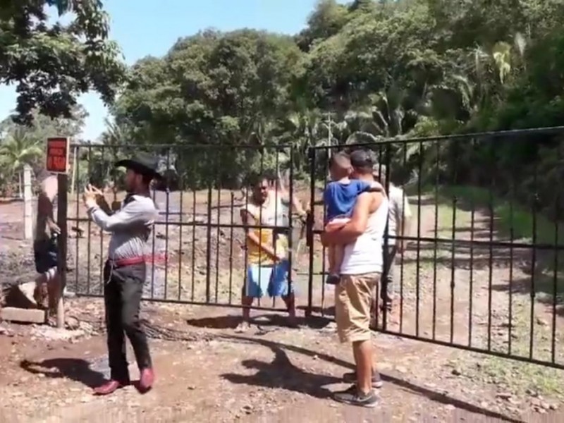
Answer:
[[(321, 0), (292, 37), (204, 30), (129, 69), (103, 141), (157, 148), (195, 187), (290, 163), (305, 177), (307, 147), (372, 142), (398, 182), (494, 184), (553, 210), (560, 137), (381, 141), (562, 124), (563, 17), (563, 0)], [(112, 63), (99, 75), (116, 80)]]

